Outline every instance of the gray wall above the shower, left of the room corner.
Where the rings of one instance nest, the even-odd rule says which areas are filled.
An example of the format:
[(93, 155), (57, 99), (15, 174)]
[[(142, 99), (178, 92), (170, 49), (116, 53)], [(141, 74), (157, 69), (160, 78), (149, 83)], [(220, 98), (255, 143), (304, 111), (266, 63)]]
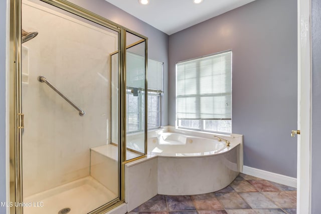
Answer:
[(148, 37), (148, 58), (164, 62), (164, 96), (162, 98), (162, 125), (168, 125), (168, 43), (169, 36), (140, 21), (104, 0), (69, 0), (70, 2), (98, 14), (112, 22), (122, 25)]

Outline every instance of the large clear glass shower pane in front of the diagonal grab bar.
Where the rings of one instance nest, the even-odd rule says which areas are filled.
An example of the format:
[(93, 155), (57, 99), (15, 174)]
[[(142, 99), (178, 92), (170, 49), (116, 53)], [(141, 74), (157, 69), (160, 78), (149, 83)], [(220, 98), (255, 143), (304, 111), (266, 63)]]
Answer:
[(119, 197), (118, 32), (44, 5), (22, 5), (23, 211), (88, 213)]

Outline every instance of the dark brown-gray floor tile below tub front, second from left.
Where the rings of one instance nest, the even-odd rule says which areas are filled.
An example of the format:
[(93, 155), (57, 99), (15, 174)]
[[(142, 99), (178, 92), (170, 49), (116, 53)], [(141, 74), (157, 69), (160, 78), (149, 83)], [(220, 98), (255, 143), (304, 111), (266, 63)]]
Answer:
[(191, 196), (189, 195), (167, 195), (168, 209), (175, 210), (196, 210)]

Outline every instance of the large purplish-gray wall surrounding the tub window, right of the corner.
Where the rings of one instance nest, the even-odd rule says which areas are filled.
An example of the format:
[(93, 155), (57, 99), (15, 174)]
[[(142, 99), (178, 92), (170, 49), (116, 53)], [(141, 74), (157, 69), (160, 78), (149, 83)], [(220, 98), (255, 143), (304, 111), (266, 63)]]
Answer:
[(296, 177), (297, 6), (257, 0), (170, 36), (169, 123), (175, 125), (175, 63), (233, 50), (232, 132), (244, 134), (244, 165)]

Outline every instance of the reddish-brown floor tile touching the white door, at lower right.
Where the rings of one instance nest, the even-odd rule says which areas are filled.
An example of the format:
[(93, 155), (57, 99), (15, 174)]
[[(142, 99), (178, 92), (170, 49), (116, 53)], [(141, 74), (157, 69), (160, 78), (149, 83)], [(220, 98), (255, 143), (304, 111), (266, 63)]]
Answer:
[(296, 208), (296, 191), (262, 192), (280, 208)]

